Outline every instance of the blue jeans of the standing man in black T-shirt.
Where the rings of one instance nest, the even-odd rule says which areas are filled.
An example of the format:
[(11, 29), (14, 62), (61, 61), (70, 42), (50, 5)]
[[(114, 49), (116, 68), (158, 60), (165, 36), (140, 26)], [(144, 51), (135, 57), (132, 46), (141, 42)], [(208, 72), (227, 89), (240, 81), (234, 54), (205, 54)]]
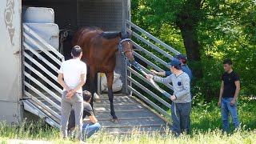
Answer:
[(230, 129), (229, 114), (231, 115), (234, 128), (239, 127), (237, 102), (234, 103), (234, 106), (230, 106), (232, 99), (222, 98), (222, 129), (224, 131)]

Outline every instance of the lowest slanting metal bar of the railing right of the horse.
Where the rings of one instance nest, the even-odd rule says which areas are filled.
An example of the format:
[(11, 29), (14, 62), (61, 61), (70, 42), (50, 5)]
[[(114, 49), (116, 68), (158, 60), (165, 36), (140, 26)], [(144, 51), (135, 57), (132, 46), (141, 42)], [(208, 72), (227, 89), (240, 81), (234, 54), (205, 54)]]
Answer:
[(137, 90), (134, 90), (134, 88), (128, 86), (128, 89), (133, 91), (134, 94), (136, 94), (139, 98), (142, 98), (144, 102), (147, 102), (148, 104), (150, 104), (150, 106), (153, 106), (156, 110), (158, 110), (161, 114), (164, 114), (166, 117), (171, 118), (170, 114), (168, 114), (165, 110), (162, 110), (161, 107), (159, 107), (158, 105), (154, 104), (154, 102), (151, 102), (148, 98), (146, 98), (145, 96), (143, 96), (142, 94), (140, 94)]

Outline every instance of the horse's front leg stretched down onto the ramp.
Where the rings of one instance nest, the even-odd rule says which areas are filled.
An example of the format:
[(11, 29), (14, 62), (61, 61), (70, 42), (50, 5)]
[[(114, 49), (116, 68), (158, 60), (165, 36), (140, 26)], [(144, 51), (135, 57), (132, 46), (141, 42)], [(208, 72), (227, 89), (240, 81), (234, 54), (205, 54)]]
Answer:
[(110, 100), (110, 114), (113, 117), (113, 122), (117, 123), (118, 117), (115, 115), (114, 105), (113, 105), (113, 99), (114, 99), (113, 90), (112, 90), (113, 78), (114, 78), (114, 71), (111, 71), (106, 74), (108, 96), (109, 96), (109, 100)]

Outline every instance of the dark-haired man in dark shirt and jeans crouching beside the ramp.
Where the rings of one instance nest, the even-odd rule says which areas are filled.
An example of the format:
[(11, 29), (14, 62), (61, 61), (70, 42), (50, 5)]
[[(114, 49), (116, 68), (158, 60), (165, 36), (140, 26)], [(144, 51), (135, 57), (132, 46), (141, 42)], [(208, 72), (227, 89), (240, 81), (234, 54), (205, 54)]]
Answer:
[[(90, 138), (90, 136), (98, 130), (100, 130), (101, 125), (98, 123), (97, 118), (94, 116), (94, 112), (92, 107), (90, 106), (90, 100), (91, 100), (91, 94), (89, 91), (84, 90), (82, 92), (83, 97), (83, 114), (82, 114), (82, 137), (83, 139)], [(89, 117), (89, 119), (85, 119), (86, 116)], [(70, 112), (70, 118), (69, 118), (69, 125), (68, 130), (70, 132), (76, 131), (75, 130), (75, 121), (74, 121), (74, 110), (71, 110)]]

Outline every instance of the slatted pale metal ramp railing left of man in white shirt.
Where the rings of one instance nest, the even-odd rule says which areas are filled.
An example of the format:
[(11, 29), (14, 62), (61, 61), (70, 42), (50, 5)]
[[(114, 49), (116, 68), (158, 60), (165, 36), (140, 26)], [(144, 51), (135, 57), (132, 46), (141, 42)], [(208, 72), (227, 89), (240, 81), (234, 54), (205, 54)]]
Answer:
[[(57, 74), (64, 56), (26, 23), (22, 24), (22, 36), (24, 94), (28, 98), (23, 100), (24, 107), (31, 113), (46, 118), (50, 125), (59, 127), (62, 89), (58, 86)], [(24, 41), (25, 38), (40, 51), (34, 50), (34, 47)]]

